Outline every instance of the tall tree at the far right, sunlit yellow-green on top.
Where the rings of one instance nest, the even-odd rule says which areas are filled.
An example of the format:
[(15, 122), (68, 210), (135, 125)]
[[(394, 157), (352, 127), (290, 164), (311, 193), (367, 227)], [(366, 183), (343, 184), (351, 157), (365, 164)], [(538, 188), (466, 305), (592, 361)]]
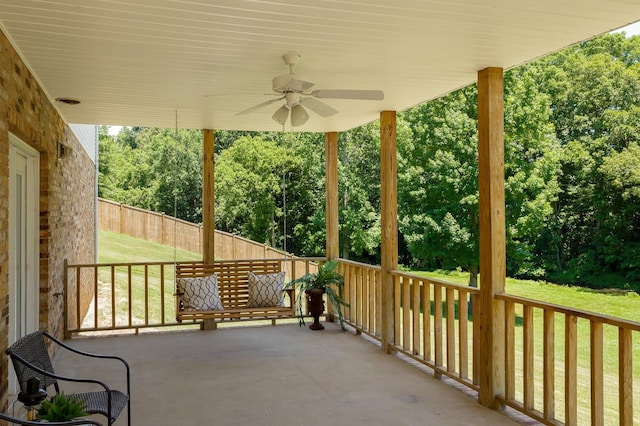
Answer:
[[(640, 39), (606, 35), (539, 61), (541, 90), (551, 99), (551, 121), (563, 149), (559, 184), (546, 238), (556, 254), (543, 253), (552, 279), (590, 285), (617, 285), (611, 274), (628, 232), (611, 226), (611, 217), (626, 217), (627, 207), (611, 203), (602, 165), (626, 150), (640, 135)], [(635, 235), (637, 225), (632, 225)], [(625, 262), (628, 263), (628, 262)], [(606, 278), (605, 278), (606, 276)], [(607, 281), (609, 281), (607, 283)], [(624, 283), (622, 283), (624, 285)]]

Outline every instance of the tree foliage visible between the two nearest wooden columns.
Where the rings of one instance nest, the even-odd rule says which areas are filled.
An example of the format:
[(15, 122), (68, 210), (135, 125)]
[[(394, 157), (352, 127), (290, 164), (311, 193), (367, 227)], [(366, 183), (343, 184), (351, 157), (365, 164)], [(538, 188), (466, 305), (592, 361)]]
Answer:
[(412, 142), (399, 146), (399, 227), (418, 267), (478, 273), (476, 90), (460, 89), (401, 118)]

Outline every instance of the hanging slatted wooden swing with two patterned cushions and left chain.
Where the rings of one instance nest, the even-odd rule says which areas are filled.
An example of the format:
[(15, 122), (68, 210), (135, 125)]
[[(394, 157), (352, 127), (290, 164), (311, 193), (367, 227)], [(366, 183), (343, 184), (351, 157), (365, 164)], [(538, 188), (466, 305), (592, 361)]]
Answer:
[[(178, 122), (176, 112), (176, 143)], [(177, 213), (174, 179), (174, 215)], [(174, 228), (176, 321), (200, 323), (203, 330), (219, 322), (295, 318), (295, 290), (283, 297), (285, 272), (276, 259), (177, 262)]]

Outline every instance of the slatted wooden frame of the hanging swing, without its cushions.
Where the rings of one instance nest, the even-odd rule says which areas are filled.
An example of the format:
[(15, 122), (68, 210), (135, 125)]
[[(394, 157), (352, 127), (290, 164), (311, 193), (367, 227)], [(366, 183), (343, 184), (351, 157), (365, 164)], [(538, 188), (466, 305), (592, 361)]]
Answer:
[[(285, 290), (285, 306), (255, 308), (247, 305), (249, 299), (249, 272), (274, 274), (281, 271), (281, 262), (273, 259), (222, 260), (213, 264), (199, 262), (176, 264), (176, 278), (205, 277), (216, 274), (223, 310), (185, 311), (182, 309), (182, 294), (176, 294), (176, 320), (252, 320), (295, 317), (294, 291)], [(213, 327), (215, 328), (215, 327)]]

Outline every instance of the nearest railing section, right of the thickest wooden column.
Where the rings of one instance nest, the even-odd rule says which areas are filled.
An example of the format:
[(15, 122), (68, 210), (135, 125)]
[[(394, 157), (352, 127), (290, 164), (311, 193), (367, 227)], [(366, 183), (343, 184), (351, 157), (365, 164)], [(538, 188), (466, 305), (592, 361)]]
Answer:
[(550, 425), (640, 424), (640, 323), (496, 298), (505, 304), (504, 404)]

